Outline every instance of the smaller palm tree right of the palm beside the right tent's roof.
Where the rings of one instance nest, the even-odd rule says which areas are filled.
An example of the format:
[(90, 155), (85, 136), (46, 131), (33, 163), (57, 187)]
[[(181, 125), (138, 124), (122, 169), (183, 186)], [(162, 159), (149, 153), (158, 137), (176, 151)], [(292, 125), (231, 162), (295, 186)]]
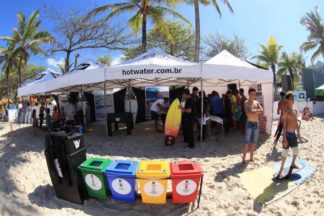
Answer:
[(277, 76), (280, 77), (288, 71), (291, 77), (292, 88), (294, 90), (295, 89), (294, 79), (297, 76), (297, 74), (295, 74), (295, 68), (297, 66), (296, 59), (294, 59), (293, 55), (288, 55), (287, 52), (284, 51), (282, 52), (279, 61), (280, 61), (279, 66), (281, 68), (278, 70)]

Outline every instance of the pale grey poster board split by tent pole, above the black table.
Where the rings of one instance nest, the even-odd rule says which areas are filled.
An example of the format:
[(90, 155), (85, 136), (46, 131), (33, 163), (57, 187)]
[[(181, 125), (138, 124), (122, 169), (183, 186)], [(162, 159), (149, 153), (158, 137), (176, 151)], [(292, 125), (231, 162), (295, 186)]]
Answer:
[[(107, 113), (115, 113), (115, 107), (113, 106), (113, 92), (112, 89), (107, 89)], [(104, 121), (105, 118), (105, 97), (104, 91), (93, 91), (94, 103), (96, 104), (96, 119), (97, 121)]]

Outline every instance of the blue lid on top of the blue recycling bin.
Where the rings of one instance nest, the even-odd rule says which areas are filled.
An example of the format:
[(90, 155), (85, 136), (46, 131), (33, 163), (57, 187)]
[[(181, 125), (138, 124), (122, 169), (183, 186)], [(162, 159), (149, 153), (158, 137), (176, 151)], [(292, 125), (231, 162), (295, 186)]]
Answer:
[(105, 170), (105, 175), (135, 177), (140, 163), (135, 160), (112, 160)]

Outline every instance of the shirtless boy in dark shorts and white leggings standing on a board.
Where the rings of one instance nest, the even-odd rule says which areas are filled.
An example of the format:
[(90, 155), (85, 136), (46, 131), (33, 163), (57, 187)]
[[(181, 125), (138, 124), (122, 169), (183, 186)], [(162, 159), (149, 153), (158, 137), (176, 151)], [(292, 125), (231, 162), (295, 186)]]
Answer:
[[(282, 152), (281, 152), (281, 166), (276, 178), (281, 177), (283, 165), (289, 153), (289, 147), (293, 152), (291, 169), (292, 168), (298, 169), (298, 167), (295, 164), (295, 160), (297, 158), (297, 155), (299, 154), (297, 136), (299, 139), (299, 143), (302, 141), (300, 137), (298, 121), (297, 121), (298, 111), (293, 107), (295, 102), (294, 93), (288, 92), (287, 95), (285, 96), (285, 99), (288, 103), (288, 107), (283, 111), (283, 145), (282, 145)], [(297, 135), (295, 133), (296, 130), (297, 130)]]

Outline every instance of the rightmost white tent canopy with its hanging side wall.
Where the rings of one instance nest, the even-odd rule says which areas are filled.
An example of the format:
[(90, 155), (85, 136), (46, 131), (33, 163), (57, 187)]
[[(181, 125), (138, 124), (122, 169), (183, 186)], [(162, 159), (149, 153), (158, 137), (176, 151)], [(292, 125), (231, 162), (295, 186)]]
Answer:
[[(248, 98), (249, 87), (254, 84), (261, 84), (264, 115), (268, 119), (266, 132), (270, 134), (273, 110), (272, 71), (257, 68), (233, 56), (226, 50), (221, 51), (201, 66), (203, 89), (206, 93), (211, 93), (215, 90), (221, 95), (226, 93), (228, 89), (227, 84), (236, 84), (238, 89), (244, 89), (245, 96)], [(200, 85), (200, 82), (196, 82), (191, 84), (190, 87)]]

